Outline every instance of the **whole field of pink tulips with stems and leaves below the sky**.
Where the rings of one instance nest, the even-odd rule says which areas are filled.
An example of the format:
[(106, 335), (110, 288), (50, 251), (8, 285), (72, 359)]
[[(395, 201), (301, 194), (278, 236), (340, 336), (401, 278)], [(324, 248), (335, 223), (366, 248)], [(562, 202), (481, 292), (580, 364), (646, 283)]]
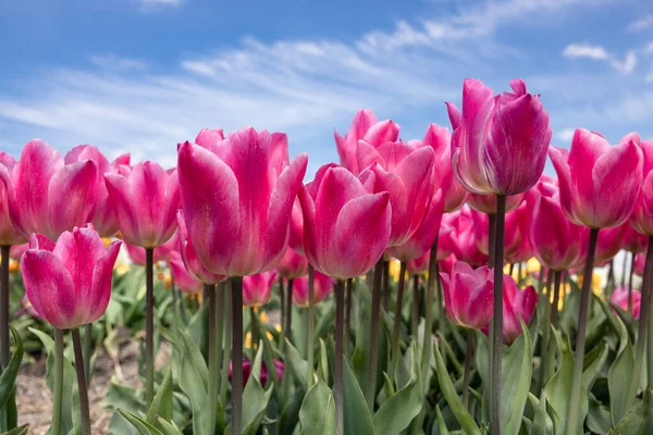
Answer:
[(252, 127), (0, 152), (0, 434), (653, 434), (653, 141), (509, 87), (315, 174)]

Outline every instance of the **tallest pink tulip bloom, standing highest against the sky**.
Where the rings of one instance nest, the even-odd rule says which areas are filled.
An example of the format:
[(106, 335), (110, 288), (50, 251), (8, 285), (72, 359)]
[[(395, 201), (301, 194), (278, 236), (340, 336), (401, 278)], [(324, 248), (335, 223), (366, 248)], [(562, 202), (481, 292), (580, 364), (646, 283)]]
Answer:
[(544, 171), (552, 130), (537, 95), (522, 79), (510, 82), (514, 94), (493, 96), (481, 80), (465, 79), (463, 113), (447, 103), (454, 127), (452, 165), (456, 178), (476, 194), (521, 194)]

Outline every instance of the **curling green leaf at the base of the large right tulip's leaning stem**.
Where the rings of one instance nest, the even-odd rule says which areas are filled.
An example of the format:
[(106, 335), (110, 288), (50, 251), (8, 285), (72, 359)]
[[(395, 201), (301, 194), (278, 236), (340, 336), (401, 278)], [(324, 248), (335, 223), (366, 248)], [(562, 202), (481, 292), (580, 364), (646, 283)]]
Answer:
[[(557, 419), (554, 419), (556, 433), (567, 427), (567, 410), (569, 409), (569, 398), (571, 397), (571, 384), (574, 383), (574, 356), (568, 339), (563, 339), (555, 328), (551, 328), (558, 345), (560, 353), (559, 366), (557, 372), (546, 383), (546, 400), (555, 411)], [(570, 433), (582, 433), (582, 424), (588, 413), (588, 395), (584, 385), (581, 385), (580, 413), (578, 419), (578, 427), (575, 427)]]

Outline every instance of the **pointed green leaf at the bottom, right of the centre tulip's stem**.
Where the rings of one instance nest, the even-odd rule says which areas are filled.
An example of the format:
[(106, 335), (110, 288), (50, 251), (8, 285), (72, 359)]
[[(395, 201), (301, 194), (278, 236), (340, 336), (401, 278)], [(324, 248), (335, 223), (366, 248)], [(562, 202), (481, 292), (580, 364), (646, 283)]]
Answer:
[[(338, 358), (338, 357), (336, 357)], [(372, 417), (365, 401), (365, 396), (360, 390), (360, 385), (356, 380), (349, 362), (344, 356), (344, 411), (345, 411), (345, 434), (374, 434)]]

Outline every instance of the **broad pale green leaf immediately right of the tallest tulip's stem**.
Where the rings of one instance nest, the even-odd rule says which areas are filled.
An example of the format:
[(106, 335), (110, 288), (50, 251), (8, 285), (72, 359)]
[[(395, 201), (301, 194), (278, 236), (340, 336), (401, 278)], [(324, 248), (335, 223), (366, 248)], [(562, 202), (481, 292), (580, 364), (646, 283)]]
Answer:
[(505, 352), (502, 363), (501, 427), (503, 433), (516, 435), (531, 383), (531, 339), (528, 326), (519, 319), (521, 335)]

